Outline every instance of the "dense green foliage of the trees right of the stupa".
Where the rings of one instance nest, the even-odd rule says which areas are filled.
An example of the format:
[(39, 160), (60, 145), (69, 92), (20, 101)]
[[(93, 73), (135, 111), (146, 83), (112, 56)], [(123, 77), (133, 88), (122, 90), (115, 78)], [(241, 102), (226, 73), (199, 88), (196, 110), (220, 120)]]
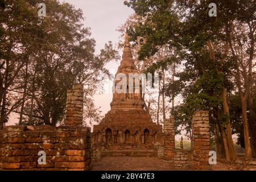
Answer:
[[(166, 96), (181, 94), (183, 102), (175, 107), (175, 125), (191, 130), (191, 117), (196, 110), (209, 110), (211, 133), (216, 123), (216, 109), (222, 109), (222, 89), (226, 88), (230, 96), (236, 96), (234, 82), (234, 61), (228, 53), (225, 55), (223, 44), (226, 42), (225, 26), (229, 21), (255, 22), (255, 3), (253, 1), (218, 1), (217, 17), (209, 17), (208, 5), (212, 1), (164, 1), (130, 0), (125, 5), (134, 9), (143, 17), (143, 22), (129, 27), (133, 40), (142, 37), (144, 43), (139, 51), (139, 59), (155, 55), (159, 48), (166, 46), (166, 51), (177, 51), (177, 57), (183, 64), (183, 70), (176, 73), (176, 80), (166, 85)], [(251, 28), (255, 24), (251, 24)], [(241, 36), (241, 44), (246, 44), (246, 37)], [(214, 59), (209, 53), (209, 45), (214, 48)], [(221, 46), (220, 46), (221, 45)], [(170, 57), (170, 59), (172, 59)], [(166, 62), (171, 65), (172, 61)], [(164, 64), (164, 66), (166, 66)], [(154, 71), (162, 66), (162, 61), (148, 68)], [(229, 97), (230, 98), (230, 97)], [(238, 98), (239, 101), (239, 98)], [(230, 114), (220, 115), (222, 125), (230, 119), (233, 134), (242, 138), (241, 110), (239, 103), (230, 101)], [(229, 103), (230, 104), (230, 103)]]

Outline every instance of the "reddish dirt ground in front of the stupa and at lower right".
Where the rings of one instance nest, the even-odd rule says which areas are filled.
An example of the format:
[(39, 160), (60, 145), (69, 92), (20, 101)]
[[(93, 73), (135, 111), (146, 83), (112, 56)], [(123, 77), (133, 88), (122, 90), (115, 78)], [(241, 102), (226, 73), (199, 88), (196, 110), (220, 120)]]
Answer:
[[(217, 161), (213, 165), (213, 171), (240, 171), (253, 170), (256, 171), (256, 159), (251, 165), (246, 164), (243, 158), (238, 158), (237, 162), (226, 163), (224, 159)], [(254, 165), (255, 164), (255, 165)], [(93, 163), (93, 171), (177, 171), (180, 169), (174, 168), (170, 162), (158, 158), (146, 157), (102, 157), (100, 161)], [(191, 170), (189, 168), (183, 170)]]

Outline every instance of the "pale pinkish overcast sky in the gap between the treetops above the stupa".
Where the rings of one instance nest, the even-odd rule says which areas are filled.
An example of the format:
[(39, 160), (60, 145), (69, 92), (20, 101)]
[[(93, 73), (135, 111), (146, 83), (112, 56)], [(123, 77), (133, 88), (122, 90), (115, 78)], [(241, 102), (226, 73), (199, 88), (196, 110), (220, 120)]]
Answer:
[(123, 0), (65, 0), (84, 13), (84, 25), (92, 29), (98, 53), (111, 40), (118, 42), (118, 26), (125, 23), (133, 9), (123, 5)]

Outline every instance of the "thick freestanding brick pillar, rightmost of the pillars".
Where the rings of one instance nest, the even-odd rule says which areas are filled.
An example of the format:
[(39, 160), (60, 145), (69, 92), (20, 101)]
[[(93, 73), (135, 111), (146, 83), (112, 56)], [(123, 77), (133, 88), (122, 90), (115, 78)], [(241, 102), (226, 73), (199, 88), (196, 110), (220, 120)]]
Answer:
[(192, 118), (193, 167), (196, 170), (210, 170), (210, 125), (209, 111), (196, 111)]

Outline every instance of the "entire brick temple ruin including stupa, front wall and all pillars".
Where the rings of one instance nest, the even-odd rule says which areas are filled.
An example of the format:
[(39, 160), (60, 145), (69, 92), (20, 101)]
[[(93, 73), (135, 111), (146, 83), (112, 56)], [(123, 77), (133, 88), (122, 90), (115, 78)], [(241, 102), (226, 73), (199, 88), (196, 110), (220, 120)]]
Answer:
[[(138, 73), (126, 35), (117, 73)], [(117, 84), (117, 82), (115, 82)], [(127, 88), (129, 89), (129, 88)], [(83, 86), (67, 92), (63, 126), (5, 126), (0, 130), (0, 170), (91, 170), (104, 156), (165, 160), (172, 169), (210, 170), (208, 111), (192, 119), (193, 150), (175, 148), (174, 117), (152, 122), (140, 93), (114, 93), (110, 111), (93, 127), (82, 126)], [(39, 164), (40, 151), (46, 163)], [(158, 166), (155, 166), (158, 169)]]

